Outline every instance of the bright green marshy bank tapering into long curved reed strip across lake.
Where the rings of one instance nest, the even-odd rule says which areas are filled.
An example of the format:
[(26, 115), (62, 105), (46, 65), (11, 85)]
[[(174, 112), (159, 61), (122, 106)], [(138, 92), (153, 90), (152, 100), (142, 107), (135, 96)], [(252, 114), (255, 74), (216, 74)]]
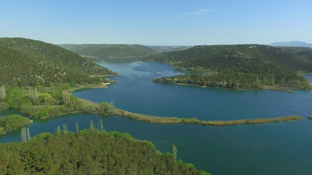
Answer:
[[(76, 87), (76, 88), (75, 88)], [(148, 123), (196, 123), (201, 125), (258, 124), (300, 120), (298, 116), (287, 116), (273, 119), (253, 119), (236, 121), (200, 121), (195, 118), (156, 117), (124, 111), (114, 107), (114, 102), (94, 103), (78, 99), (71, 92), (78, 88), (104, 88), (106, 84), (72, 87), (62, 84), (55, 87), (7, 87), (6, 98), (0, 102), (0, 109), (20, 108), (21, 114), (32, 118), (45, 119), (68, 113), (90, 112), (103, 115), (118, 115), (131, 120)]]

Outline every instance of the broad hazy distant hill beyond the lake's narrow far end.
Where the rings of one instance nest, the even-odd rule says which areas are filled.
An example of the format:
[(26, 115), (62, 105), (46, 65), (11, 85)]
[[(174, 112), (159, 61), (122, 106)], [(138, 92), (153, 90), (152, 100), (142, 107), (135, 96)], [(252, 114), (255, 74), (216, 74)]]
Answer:
[(138, 44), (59, 44), (74, 53), (94, 57), (146, 56), (158, 51)]

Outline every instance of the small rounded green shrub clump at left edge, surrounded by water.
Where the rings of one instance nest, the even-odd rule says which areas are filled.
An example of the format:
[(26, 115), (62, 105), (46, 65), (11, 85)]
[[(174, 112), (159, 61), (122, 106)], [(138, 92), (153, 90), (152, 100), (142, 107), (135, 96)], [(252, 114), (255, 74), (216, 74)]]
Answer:
[(0, 117), (0, 134), (15, 130), (30, 123), (32, 123), (32, 121), (27, 117), (22, 117), (16, 114)]

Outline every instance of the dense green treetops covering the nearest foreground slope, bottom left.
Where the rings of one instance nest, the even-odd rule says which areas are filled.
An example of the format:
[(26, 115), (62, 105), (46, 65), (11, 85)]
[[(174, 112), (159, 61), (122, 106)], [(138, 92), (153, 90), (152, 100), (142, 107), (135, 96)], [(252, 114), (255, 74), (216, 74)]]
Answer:
[(119, 132), (43, 133), (26, 142), (0, 144), (0, 155), (0, 175), (209, 175)]

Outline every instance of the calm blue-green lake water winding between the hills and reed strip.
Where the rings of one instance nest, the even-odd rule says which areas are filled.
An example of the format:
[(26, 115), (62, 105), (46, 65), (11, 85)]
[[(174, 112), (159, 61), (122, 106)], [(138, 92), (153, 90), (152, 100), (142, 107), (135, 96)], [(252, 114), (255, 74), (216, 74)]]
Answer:
[[(161, 152), (171, 152), (212, 175), (311, 175), (312, 91), (286, 93), (268, 90), (234, 91), (151, 82), (161, 76), (184, 74), (170, 65), (143, 62), (105, 62), (100, 65), (120, 73), (109, 88), (83, 89), (79, 98), (114, 101), (116, 107), (165, 117), (196, 117), (201, 120), (235, 120), (300, 115), (304, 120), (256, 125), (200, 126), (196, 124), (153, 124), (118, 116), (88, 113), (35, 120), (31, 135), (55, 133), (66, 123), (69, 130), (88, 128), (90, 120), (103, 119), (107, 131), (130, 133), (150, 140)], [(306, 76), (312, 79), (312, 75)], [(17, 110), (0, 112), (18, 113)], [(0, 136), (0, 142), (20, 141), (20, 130)]]

